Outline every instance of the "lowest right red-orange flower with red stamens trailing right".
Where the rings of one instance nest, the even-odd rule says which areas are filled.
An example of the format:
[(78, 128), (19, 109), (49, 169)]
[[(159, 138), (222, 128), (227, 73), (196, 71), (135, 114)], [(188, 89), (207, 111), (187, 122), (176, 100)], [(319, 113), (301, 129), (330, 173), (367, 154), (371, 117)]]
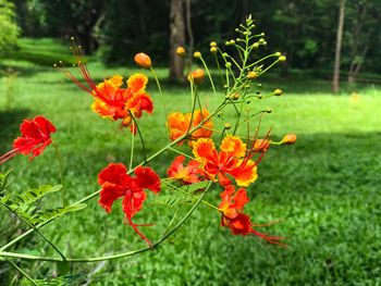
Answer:
[(235, 191), (234, 186), (228, 186), (225, 190), (221, 192), (221, 199), (222, 202), (219, 206), (222, 212), (221, 225), (229, 227), (233, 235), (253, 234), (263, 238), (270, 244), (285, 246), (280, 243), (280, 240), (285, 239), (285, 237), (270, 236), (253, 228), (254, 226), (266, 225), (251, 224), (250, 216), (243, 213), (245, 204), (249, 201), (244, 188)]

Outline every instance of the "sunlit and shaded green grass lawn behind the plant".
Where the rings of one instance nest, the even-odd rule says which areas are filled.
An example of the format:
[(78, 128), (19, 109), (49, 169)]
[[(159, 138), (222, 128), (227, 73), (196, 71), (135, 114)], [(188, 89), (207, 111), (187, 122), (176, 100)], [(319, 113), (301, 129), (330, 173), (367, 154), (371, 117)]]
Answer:
[[(49, 40), (48, 40), (49, 41)], [(39, 43), (44, 45), (39, 45)], [(90, 96), (82, 92), (62, 74), (38, 63), (46, 50), (59, 59), (62, 46), (54, 41), (26, 40), (23, 46), (40, 47), (30, 59), (2, 60), (16, 76), (0, 77), (0, 153), (11, 148), (25, 116), (44, 114), (57, 126), (54, 140), (65, 159), (65, 189), (70, 202), (98, 188), (97, 174), (109, 161), (128, 162), (128, 132), (118, 123), (101, 120), (89, 110)], [(35, 43), (37, 46), (35, 46)], [(29, 45), (29, 46), (28, 46)], [(22, 47), (22, 49), (23, 49)], [(64, 57), (64, 55), (62, 55)], [(37, 59), (37, 60), (36, 60)], [(56, 60), (54, 60), (56, 61)], [(89, 64), (95, 78), (114, 73), (124, 76), (136, 70), (112, 70)], [(142, 71), (140, 71), (142, 72)], [(164, 78), (167, 70), (159, 70)], [(278, 79), (272, 74), (263, 89), (282, 87), (285, 96), (253, 101), (251, 110), (271, 108), (263, 117), (261, 134), (273, 126), (272, 138), (295, 132), (298, 141), (291, 147), (273, 147), (259, 165), (259, 179), (249, 188), (251, 202), (246, 212), (255, 222), (282, 221), (268, 233), (290, 237), (288, 248), (266, 245), (253, 237), (232, 236), (219, 226), (219, 214), (205, 206), (156, 251), (106, 263), (73, 264), (72, 273), (90, 275), (91, 285), (378, 285), (381, 283), (381, 87), (345, 86), (340, 96), (329, 94), (323, 80)], [(149, 153), (167, 142), (163, 110), (153, 82), (148, 87), (155, 103), (152, 116), (139, 121)], [(349, 96), (356, 91), (358, 96)], [(4, 96), (3, 96), (4, 95)], [(212, 109), (220, 100), (201, 87), (202, 102)], [(188, 111), (185, 87), (164, 85), (164, 98), (172, 111)], [(232, 112), (214, 121), (219, 127), (232, 122)], [(257, 121), (251, 122), (251, 129)], [(241, 132), (245, 134), (245, 128)], [(138, 159), (142, 147), (137, 145)], [(150, 165), (162, 175), (174, 158), (164, 153)], [(32, 163), (17, 157), (0, 167), (14, 169), (13, 192), (40, 184), (58, 184), (59, 171), (53, 148)], [(45, 200), (45, 207), (57, 201)], [(213, 189), (208, 200), (219, 203)], [(175, 211), (156, 206), (152, 194), (136, 216), (137, 223), (155, 223), (144, 229), (155, 239)], [(123, 225), (120, 203), (107, 215), (97, 204), (69, 214), (42, 228), (70, 257), (100, 256), (144, 247), (132, 229)], [(183, 210), (182, 212), (184, 212)], [(17, 223), (4, 210), (0, 241), (16, 235)], [(8, 228), (7, 228), (8, 227)], [(5, 228), (5, 229), (4, 229)], [(12, 232), (7, 232), (11, 229)], [(24, 227), (25, 229), (25, 227)], [(32, 235), (12, 250), (53, 254), (38, 236)], [(52, 274), (51, 263), (17, 262), (35, 278)], [(1, 265), (0, 284), (7, 285), (15, 271)]]

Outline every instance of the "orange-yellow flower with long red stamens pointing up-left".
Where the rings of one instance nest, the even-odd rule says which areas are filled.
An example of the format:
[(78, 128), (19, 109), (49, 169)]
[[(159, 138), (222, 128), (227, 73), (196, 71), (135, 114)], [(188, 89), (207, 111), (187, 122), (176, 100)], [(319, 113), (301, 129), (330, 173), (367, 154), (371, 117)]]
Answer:
[(135, 134), (136, 126), (132, 124), (132, 115), (139, 119), (143, 111), (148, 113), (152, 113), (153, 111), (152, 100), (145, 90), (148, 83), (147, 76), (144, 74), (132, 75), (127, 80), (127, 88), (122, 88), (123, 77), (120, 75), (114, 75), (109, 79), (105, 79), (103, 83), (96, 85), (87, 70), (86, 63), (82, 59), (83, 52), (81, 47), (76, 46), (74, 39), (73, 43), (72, 51), (77, 63), (77, 70), (86, 84), (79, 82), (61, 63), (63, 74), (95, 98), (91, 104), (94, 112), (103, 119), (110, 119), (112, 121), (122, 120), (122, 126), (130, 126), (131, 130)]

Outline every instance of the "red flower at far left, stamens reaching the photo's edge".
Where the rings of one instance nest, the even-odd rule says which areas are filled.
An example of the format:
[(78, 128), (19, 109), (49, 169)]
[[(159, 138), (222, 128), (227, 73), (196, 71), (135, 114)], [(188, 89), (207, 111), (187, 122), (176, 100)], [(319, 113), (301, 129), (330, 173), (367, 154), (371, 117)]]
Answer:
[(13, 149), (0, 157), (0, 164), (15, 154), (30, 154), (29, 161), (42, 153), (51, 144), (50, 134), (56, 132), (54, 125), (44, 116), (34, 120), (24, 120), (20, 125), (21, 137), (13, 141)]

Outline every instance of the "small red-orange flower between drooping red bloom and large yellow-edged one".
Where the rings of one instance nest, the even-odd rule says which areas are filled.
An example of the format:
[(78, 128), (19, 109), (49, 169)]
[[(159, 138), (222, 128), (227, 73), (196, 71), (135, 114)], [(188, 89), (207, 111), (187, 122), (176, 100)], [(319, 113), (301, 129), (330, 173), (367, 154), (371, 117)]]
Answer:
[(199, 170), (200, 162), (190, 160), (187, 166), (184, 166), (184, 156), (177, 156), (171, 166), (167, 170), (167, 174), (173, 178), (179, 179), (184, 184), (193, 184), (200, 181), (198, 175), (202, 175), (202, 171)]

